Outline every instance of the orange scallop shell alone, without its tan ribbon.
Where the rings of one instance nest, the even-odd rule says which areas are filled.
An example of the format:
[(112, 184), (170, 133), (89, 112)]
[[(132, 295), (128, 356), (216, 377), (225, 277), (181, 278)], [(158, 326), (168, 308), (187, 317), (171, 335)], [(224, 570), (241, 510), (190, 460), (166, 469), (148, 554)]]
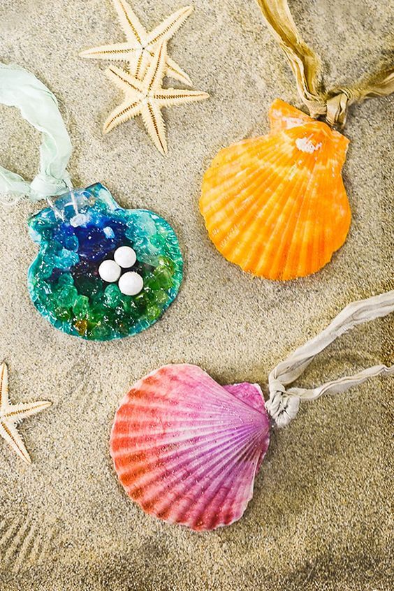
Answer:
[(205, 173), (200, 211), (228, 261), (267, 279), (321, 269), (346, 240), (344, 136), (275, 100), (271, 131), (222, 149)]

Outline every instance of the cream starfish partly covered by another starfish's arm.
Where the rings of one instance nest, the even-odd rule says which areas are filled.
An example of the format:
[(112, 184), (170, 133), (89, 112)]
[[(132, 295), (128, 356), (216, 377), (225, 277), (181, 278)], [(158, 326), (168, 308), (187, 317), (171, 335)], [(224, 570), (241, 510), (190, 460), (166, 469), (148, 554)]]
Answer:
[[(147, 33), (129, 3), (125, 0), (113, 1), (119, 15), (120, 24), (126, 34), (126, 43), (101, 45), (97, 48), (82, 51), (80, 56), (94, 59), (120, 59), (127, 61), (129, 72), (138, 78), (138, 80), (143, 80), (157, 45), (168, 41), (173, 36), (175, 31), (181, 27), (187, 17), (193, 12), (193, 7), (184, 6), (184, 8), (180, 8), (180, 10), (177, 10), (163, 20), (151, 33)], [(187, 73), (168, 56), (166, 58), (165, 73), (188, 86), (191, 85), (191, 80)]]

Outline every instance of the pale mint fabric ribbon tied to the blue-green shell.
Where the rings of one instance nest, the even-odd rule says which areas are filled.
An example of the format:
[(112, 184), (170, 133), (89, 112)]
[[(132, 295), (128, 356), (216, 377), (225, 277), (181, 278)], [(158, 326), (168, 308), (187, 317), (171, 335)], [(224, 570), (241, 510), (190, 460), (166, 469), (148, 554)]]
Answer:
[(38, 175), (29, 183), (0, 166), (0, 193), (37, 201), (71, 189), (66, 167), (72, 146), (54, 94), (24, 68), (0, 64), (0, 103), (19, 108), (22, 117), (43, 134)]

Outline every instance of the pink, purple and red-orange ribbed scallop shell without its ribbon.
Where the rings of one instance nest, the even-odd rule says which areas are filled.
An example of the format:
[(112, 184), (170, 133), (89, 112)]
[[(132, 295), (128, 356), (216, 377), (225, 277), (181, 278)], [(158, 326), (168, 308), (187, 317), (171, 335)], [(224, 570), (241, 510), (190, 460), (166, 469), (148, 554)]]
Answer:
[(110, 451), (127, 494), (146, 513), (214, 530), (244, 513), (269, 429), (256, 384), (219, 386), (196, 365), (165, 365), (122, 400)]

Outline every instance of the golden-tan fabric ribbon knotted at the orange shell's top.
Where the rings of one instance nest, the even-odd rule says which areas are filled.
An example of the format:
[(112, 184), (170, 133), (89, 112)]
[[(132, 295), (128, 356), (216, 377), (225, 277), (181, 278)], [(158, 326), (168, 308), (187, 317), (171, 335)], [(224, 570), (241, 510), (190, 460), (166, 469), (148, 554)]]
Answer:
[(287, 0), (257, 0), (265, 22), (275, 37), (296, 77), (298, 94), (311, 117), (325, 117), (331, 126), (342, 128), (346, 112), (353, 103), (361, 103), (374, 96), (388, 96), (394, 92), (394, 67), (360, 80), (352, 87), (341, 87), (324, 92), (319, 81), (321, 64), (314, 51), (298, 33)]

